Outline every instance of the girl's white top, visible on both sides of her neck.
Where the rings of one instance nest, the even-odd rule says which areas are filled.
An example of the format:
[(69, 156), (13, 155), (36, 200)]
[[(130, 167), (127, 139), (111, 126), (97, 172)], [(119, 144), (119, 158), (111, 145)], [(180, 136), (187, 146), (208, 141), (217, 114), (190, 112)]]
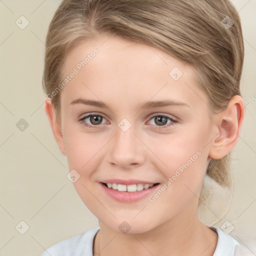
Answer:
[[(213, 256), (255, 255), (248, 247), (240, 244), (220, 228), (216, 226), (210, 228), (218, 234), (217, 246)], [(80, 235), (60, 241), (45, 250), (41, 256), (93, 256), (93, 240), (98, 230), (99, 227), (90, 229)]]

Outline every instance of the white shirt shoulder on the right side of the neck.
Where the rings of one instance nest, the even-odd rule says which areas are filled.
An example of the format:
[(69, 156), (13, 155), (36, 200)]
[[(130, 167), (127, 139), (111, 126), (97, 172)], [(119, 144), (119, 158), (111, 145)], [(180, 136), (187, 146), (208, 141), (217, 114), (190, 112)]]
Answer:
[[(256, 252), (256, 240), (248, 236), (241, 236), (242, 234), (227, 234), (222, 231), (219, 227), (211, 226), (218, 234), (217, 246), (214, 251), (213, 256), (238, 256), (246, 255), (252, 256)], [(243, 237), (243, 240), (247, 241), (247, 244), (244, 243), (240, 238)]]

